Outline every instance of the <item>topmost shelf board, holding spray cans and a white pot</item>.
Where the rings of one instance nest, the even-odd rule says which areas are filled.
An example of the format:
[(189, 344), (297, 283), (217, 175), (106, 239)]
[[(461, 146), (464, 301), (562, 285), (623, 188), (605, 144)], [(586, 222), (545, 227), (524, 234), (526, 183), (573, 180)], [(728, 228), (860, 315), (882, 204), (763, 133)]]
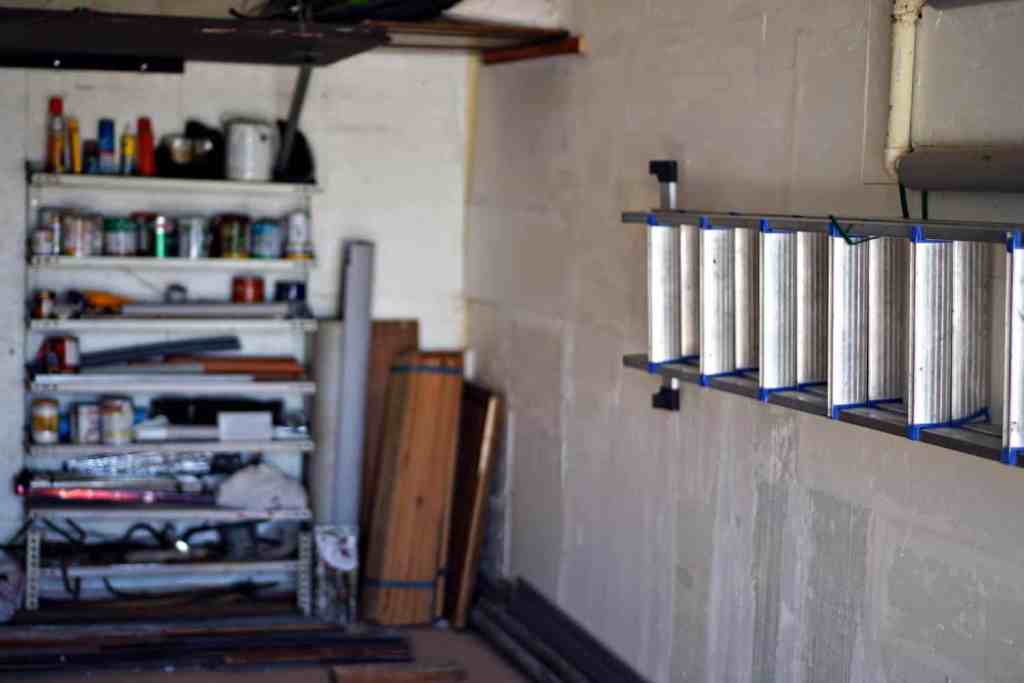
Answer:
[(215, 195), (270, 195), (308, 197), (323, 191), (319, 185), (299, 182), (246, 182), (242, 180), (191, 180), (130, 175), (76, 175), (32, 173), (29, 184), (36, 189), (87, 189), (137, 193)]

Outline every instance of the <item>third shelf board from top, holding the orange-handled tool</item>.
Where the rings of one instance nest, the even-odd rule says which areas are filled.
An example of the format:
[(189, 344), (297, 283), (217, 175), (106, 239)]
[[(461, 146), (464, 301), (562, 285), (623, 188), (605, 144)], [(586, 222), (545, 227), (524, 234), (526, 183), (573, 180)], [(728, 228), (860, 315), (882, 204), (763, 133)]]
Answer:
[(31, 321), (29, 330), (38, 333), (60, 332), (83, 334), (100, 332), (103, 334), (169, 333), (169, 332), (316, 332), (316, 321), (312, 318), (177, 318), (177, 317), (111, 317), (75, 318), (68, 321)]

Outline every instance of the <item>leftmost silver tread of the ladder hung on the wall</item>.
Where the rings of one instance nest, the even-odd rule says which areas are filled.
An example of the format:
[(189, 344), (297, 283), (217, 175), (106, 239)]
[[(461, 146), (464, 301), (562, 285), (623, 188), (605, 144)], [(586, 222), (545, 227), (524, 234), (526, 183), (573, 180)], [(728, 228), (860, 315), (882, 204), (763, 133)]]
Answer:
[(647, 359), (677, 360), (682, 355), (679, 228), (647, 227)]

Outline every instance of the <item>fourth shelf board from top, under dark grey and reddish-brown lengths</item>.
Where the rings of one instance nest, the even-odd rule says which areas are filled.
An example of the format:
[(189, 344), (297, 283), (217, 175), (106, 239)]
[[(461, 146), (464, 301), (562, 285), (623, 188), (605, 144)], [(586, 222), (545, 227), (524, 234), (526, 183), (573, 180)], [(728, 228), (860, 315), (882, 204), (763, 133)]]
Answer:
[[(112, 378), (83, 379), (70, 383), (47, 383), (45, 375), (37, 377), (30, 385), (32, 393), (46, 394), (97, 394), (97, 393), (185, 393), (209, 396), (223, 395), (281, 395), (316, 393), (316, 383), (301, 382), (213, 382), (187, 379), (159, 381), (118, 381)], [(83, 376), (88, 377), (88, 376)], [(164, 376), (166, 377), (166, 376)], [(42, 378), (42, 379), (41, 379)]]

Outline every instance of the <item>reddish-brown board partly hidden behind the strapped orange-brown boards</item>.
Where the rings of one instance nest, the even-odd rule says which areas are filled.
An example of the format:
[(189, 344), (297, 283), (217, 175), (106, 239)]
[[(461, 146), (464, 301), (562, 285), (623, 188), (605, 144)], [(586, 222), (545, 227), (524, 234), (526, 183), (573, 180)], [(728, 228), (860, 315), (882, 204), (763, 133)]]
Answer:
[(374, 495), (377, 489), (391, 365), (401, 353), (415, 351), (419, 347), (420, 324), (417, 321), (374, 321), (370, 338), (370, 370), (367, 376), (367, 429), (359, 515), (359, 524), (365, 532), (373, 523)]

